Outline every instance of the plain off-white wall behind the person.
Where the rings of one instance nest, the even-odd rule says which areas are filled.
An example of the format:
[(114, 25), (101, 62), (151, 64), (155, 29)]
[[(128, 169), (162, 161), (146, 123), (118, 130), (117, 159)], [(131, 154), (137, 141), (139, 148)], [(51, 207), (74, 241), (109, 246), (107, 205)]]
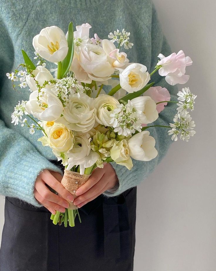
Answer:
[(173, 52), (183, 49), (193, 60), (185, 86), (198, 95), (197, 134), (173, 143), (138, 187), (134, 271), (216, 271), (216, 1), (153, 2)]

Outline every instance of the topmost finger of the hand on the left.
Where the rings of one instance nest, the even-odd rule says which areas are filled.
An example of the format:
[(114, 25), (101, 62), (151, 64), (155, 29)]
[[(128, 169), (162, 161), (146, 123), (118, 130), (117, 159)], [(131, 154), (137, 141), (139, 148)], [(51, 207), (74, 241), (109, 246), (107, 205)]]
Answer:
[(46, 173), (46, 177), (43, 178), (43, 181), (48, 184), (51, 188), (53, 188), (56, 192), (58, 192), (64, 199), (73, 201), (74, 197), (70, 192), (68, 192), (64, 186), (55, 179), (55, 177), (48, 171)]

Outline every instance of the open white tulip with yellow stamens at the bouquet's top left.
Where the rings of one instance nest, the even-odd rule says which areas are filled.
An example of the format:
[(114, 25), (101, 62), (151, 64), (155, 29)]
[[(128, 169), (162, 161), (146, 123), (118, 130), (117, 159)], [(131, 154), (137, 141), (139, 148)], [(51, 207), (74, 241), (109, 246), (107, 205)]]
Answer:
[(68, 52), (65, 34), (57, 26), (43, 28), (40, 34), (33, 38), (35, 51), (50, 62), (60, 62), (65, 59)]

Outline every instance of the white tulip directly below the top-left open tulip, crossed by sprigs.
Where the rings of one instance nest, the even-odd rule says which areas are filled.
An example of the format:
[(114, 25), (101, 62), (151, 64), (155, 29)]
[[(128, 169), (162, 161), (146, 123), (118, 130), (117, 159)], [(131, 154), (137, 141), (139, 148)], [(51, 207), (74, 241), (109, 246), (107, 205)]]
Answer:
[[(53, 75), (43, 66), (37, 66), (36, 69), (33, 70), (33, 75), (35, 75), (35, 78), (31, 77), (31, 74), (26, 76), (26, 82), (31, 91), (38, 90), (35, 80), (38, 81), (41, 86), (45, 81), (54, 80)], [(53, 84), (46, 85), (46, 88), (51, 89), (53, 86)]]

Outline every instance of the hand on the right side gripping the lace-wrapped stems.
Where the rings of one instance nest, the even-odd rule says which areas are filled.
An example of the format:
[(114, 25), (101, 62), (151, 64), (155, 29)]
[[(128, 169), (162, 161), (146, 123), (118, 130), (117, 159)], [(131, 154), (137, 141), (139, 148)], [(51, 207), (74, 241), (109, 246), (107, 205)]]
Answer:
[(112, 165), (104, 163), (103, 168), (95, 168), (87, 182), (77, 189), (76, 196), (78, 197), (73, 203), (80, 208), (104, 191), (113, 188), (117, 182), (118, 177)]

